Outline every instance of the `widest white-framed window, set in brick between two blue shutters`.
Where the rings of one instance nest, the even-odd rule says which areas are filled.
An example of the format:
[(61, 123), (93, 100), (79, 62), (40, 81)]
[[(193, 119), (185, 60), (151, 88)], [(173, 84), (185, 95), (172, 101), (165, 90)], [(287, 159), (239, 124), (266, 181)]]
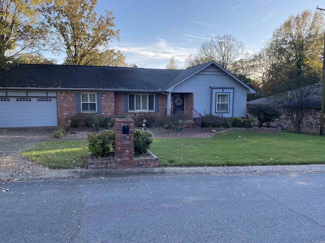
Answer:
[(128, 111), (154, 111), (154, 95), (129, 94)]

